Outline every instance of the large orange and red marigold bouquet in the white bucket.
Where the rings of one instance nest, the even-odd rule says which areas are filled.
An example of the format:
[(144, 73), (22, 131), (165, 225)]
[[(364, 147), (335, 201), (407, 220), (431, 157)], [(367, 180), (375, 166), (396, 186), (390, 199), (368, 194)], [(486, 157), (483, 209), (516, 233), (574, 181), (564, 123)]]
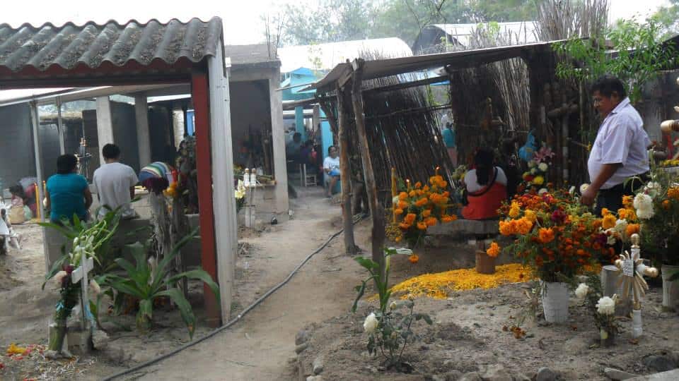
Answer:
[(518, 255), (545, 282), (584, 272), (597, 252), (614, 254), (601, 219), (567, 191), (516, 195), (501, 207), (500, 216), (500, 234), (515, 238), (504, 250)]

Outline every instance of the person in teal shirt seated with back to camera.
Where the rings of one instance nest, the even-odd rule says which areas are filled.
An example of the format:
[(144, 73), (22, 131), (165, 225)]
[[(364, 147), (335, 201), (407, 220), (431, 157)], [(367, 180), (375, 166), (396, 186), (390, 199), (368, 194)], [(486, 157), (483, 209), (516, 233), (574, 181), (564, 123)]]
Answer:
[(62, 219), (73, 223), (73, 216), (86, 221), (92, 205), (92, 193), (87, 179), (78, 174), (78, 159), (66, 154), (57, 158), (57, 174), (47, 180), (47, 203), (50, 220), (61, 224)]

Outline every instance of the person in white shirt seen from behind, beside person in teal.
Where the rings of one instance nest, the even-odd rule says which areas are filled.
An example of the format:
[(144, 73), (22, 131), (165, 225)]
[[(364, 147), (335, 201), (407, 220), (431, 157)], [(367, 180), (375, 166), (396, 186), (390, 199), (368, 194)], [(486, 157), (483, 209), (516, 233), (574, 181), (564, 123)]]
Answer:
[[(112, 210), (120, 207), (123, 219), (137, 217), (130, 202), (134, 198), (134, 186), (139, 179), (134, 169), (120, 163), (120, 148), (115, 144), (107, 144), (101, 153), (105, 164), (94, 171), (93, 183), (99, 196), (99, 203), (108, 206)], [(99, 217), (105, 216), (106, 208), (101, 208)]]

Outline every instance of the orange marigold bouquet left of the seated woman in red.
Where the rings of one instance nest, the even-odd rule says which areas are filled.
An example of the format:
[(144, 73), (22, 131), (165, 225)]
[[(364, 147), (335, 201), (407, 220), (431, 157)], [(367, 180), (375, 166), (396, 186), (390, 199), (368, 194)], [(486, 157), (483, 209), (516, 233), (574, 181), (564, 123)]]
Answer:
[(443, 176), (436, 174), (429, 178), (428, 184), (419, 181), (411, 185), (406, 180), (405, 187), (394, 197), (393, 207), (397, 216), (396, 226), (399, 233), (394, 239), (405, 240), (410, 248), (417, 246), (429, 226), (439, 222), (455, 221), (454, 214), (448, 214), (451, 207), (451, 194), (446, 189), (448, 183)]

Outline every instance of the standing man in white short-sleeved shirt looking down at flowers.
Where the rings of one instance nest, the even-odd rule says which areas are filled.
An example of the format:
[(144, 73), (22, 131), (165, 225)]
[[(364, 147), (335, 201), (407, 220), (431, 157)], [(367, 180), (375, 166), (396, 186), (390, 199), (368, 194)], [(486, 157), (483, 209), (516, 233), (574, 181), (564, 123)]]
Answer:
[(625, 181), (636, 176), (648, 179), (651, 140), (619, 79), (599, 78), (592, 86), (592, 97), (603, 121), (587, 162), (591, 185), (582, 193), (581, 202), (592, 205), (596, 199), (597, 214), (603, 207), (617, 212), (622, 196), (634, 194), (642, 185), (641, 181)]

